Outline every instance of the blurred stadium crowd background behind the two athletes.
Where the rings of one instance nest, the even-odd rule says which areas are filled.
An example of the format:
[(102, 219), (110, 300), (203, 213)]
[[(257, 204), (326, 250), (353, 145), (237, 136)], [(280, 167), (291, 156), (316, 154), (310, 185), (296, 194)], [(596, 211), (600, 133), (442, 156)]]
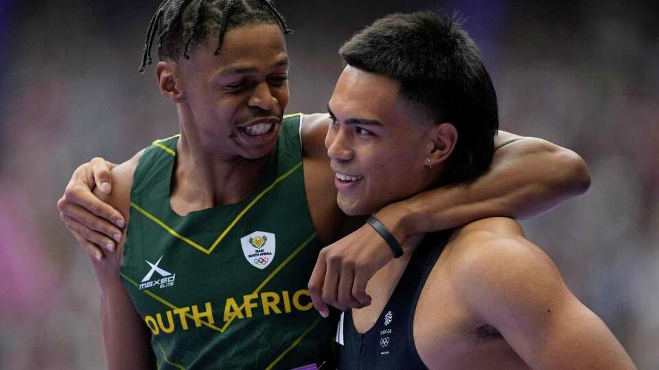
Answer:
[[(121, 162), (176, 132), (153, 69), (137, 73), (159, 1), (0, 0), (0, 369), (102, 369), (98, 291), (56, 200), (78, 164)], [(295, 34), (288, 112), (323, 112), (352, 33), (395, 11), (470, 18), (503, 130), (577, 151), (592, 187), (527, 236), (659, 369), (659, 3), (284, 1)]]

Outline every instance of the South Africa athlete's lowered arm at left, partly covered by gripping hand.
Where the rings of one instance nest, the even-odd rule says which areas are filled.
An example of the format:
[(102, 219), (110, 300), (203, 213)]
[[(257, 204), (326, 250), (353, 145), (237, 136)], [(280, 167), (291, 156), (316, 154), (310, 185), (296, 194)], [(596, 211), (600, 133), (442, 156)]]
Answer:
[[(139, 157), (120, 164), (111, 172), (114, 191), (106, 195), (95, 190), (95, 195), (119, 210), (128, 221), (130, 186)], [(119, 277), (124, 242), (122, 237), (115, 253), (103, 260), (91, 259), (94, 273), (101, 288), (101, 324), (108, 369), (153, 369), (154, 354), (150, 346), (150, 332), (133, 306)]]

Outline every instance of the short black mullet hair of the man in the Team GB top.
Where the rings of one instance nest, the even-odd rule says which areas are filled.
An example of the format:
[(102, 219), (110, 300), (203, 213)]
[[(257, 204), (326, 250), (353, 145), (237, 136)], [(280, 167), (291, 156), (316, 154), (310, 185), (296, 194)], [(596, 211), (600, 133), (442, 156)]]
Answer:
[(349, 66), (400, 82), (399, 98), (423, 121), (454, 125), (458, 141), (437, 185), (470, 182), (487, 170), (499, 125), (496, 93), (459, 16), (390, 14), (339, 54)]

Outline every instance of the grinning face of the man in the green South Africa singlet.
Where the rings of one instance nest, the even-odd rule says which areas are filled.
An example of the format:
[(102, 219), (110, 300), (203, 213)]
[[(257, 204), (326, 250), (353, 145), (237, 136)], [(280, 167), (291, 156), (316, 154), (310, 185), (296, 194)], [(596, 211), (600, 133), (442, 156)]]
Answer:
[(183, 134), (222, 160), (273, 151), (288, 103), (288, 56), (279, 25), (230, 29), (218, 56), (213, 42), (177, 66)]

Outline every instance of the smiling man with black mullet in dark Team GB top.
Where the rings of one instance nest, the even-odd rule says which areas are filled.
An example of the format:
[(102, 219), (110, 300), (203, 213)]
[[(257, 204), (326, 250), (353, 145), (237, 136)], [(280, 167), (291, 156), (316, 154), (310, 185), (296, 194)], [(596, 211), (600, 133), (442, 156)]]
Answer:
[[(345, 179), (336, 199), (346, 214), (485, 172), (496, 93), (459, 21), (392, 14), (340, 55), (347, 66), (325, 143)], [(634, 369), (516, 221), (483, 219), (405, 244), (369, 281), (372, 304), (342, 314), (339, 369)]]

